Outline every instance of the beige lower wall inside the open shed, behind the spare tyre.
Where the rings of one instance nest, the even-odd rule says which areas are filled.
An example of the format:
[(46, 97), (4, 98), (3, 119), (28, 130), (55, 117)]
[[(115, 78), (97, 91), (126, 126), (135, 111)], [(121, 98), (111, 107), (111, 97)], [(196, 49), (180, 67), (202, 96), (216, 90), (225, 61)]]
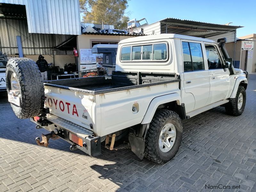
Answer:
[[(38, 60), (39, 55), (24, 55), (24, 57), (32, 59), (34, 61)], [(44, 59), (47, 63), (53, 63), (53, 55), (43, 55)], [(11, 57), (18, 57), (18, 56), (10, 56)], [(64, 65), (67, 63), (75, 63), (74, 55), (54, 55), (54, 63), (55, 66), (60, 66), (60, 68), (64, 68)], [(53, 65), (52, 65), (53, 66)]]

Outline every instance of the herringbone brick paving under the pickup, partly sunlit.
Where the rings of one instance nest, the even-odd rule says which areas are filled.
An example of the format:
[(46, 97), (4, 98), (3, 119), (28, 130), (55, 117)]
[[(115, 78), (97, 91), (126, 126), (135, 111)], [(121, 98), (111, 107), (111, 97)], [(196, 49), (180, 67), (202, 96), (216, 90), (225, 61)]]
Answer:
[(205, 184), (256, 191), (256, 75), (249, 77), (243, 115), (215, 108), (183, 122), (176, 157), (164, 165), (129, 149), (101, 150), (99, 158), (70, 152), (63, 140), (49, 148), (35, 138), (46, 131), (12, 112), (0, 94), (0, 192), (3, 191), (211, 191)]

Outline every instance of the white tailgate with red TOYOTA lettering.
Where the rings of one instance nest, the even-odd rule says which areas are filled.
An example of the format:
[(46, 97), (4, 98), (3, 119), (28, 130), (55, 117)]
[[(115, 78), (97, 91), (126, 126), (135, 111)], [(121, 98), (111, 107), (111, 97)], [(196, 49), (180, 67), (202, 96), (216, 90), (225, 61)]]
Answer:
[(50, 108), (51, 114), (93, 130), (91, 117), (94, 97), (92, 95), (49, 86), (44, 86), (44, 92), (44, 105)]

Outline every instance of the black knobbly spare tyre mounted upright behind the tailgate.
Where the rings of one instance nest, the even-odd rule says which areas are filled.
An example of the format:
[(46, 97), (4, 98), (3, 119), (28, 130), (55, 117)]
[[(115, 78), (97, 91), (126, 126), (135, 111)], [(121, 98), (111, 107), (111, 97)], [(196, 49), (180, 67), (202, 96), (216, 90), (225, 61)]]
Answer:
[(20, 119), (42, 113), (44, 108), (44, 83), (36, 62), (28, 58), (10, 59), (6, 66), (6, 88), (11, 90), (11, 76), (15, 73), (19, 83), (20, 106), (11, 103), (12, 110)]

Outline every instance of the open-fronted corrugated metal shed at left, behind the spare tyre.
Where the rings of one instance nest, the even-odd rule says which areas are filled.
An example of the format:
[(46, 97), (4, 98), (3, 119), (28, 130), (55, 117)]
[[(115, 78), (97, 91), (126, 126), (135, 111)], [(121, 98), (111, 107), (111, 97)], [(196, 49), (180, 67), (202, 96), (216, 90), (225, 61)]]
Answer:
[(0, 50), (9, 58), (20, 53), (36, 61), (42, 54), (48, 63), (60, 67), (75, 62), (73, 49), (65, 44), (76, 42), (81, 34), (78, 0), (0, 0), (0, 11)]

